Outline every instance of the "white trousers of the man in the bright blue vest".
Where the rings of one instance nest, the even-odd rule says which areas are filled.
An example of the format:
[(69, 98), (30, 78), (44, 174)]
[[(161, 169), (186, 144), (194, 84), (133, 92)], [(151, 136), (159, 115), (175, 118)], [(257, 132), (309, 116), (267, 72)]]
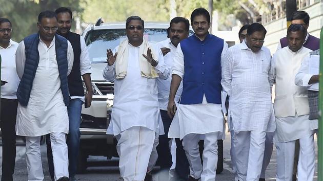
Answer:
[[(217, 137), (219, 132), (206, 134), (190, 133), (183, 138), (183, 147), (190, 164), (190, 176), (201, 178), (201, 181), (214, 181), (217, 166)], [(198, 142), (201, 135), (205, 136), (203, 150), (203, 166), (199, 155)]]

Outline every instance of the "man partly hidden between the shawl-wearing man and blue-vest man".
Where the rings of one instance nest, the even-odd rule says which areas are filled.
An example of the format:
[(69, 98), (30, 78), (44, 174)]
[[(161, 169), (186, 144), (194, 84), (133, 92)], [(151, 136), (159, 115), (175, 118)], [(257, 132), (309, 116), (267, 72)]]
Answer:
[[(173, 58), (176, 52), (176, 47), (181, 40), (188, 37), (189, 28), (190, 28), (190, 22), (188, 19), (184, 17), (174, 17), (170, 21), (169, 38), (157, 43), (157, 46), (161, 49), (161, 52), (163, 52), (165, 64), (168, 67), (171, 67), (173, 65)], [(168, 79), (166, 80), (163, 80), (160, 78), (157, 79), (158, 103), (159, 103), (159, 109), (160, 109), (160, 116), (161, 116), (161, 119), (163, 120), (165, 134), (159, 136), (159, 143), (155, 142), (158, 144), (157, 146), (158, 154), (154, 154), (155, 156), (152, 154), (151, 164), (148, 168), (149, 171), (151, 171), (151, 169), (155, 165), (154, 163), (157, 159), (157, 156), (158, 156), (157, 162), (159, 163), (159, 166), (161, 169), (169, 170), (172, 166), (172, 155), (169, 147), (169, 141), (171, 139), (168, 138), (168, 131), (169, 131), (169, 127), (171, 125), (172, 119), (167, 114), (167, 104), (168, 104), (171, 80), (172, 80), (171, 76), (168, 77)], [(175, 97), (176, 103), (179, 101), (182, 89), (183, 89), (183, 85), (180, 84), (180, 87), (177, 90), (176, 97)], [(185, 151), (183, 149), (183, 144), (179, 139), (176, 139), (175, 141), (176, 141), (175, 173), (176, 173), (176, 176), (178, 175), (179, 180), (187, 180), (187, 177), (189, 174), (189, 168), (188, 168), (189, 164), (185, 155)]]

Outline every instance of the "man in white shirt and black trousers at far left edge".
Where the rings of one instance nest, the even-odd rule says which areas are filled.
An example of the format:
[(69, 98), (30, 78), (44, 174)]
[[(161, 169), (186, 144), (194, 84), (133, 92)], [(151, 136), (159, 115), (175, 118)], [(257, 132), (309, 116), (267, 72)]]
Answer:
[(16, 116), (17, 88), (19, 77), (16, 72), (15, 53), (18, 43), (11, 39), (11, 22), (0, 18), (0, 55), (2, 56), (1, 80), (8, 83), (1, 86), (1, 139), (2, 139), (2, 176), (1, 180), (12, 181), (16, 157)]

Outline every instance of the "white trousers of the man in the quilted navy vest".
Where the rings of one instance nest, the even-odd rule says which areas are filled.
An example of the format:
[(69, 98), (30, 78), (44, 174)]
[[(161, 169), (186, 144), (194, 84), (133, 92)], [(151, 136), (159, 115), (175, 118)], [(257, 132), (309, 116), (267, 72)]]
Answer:
[[(55, 180), (63, 176), (68, 177), (66, 134), (64, 132), (52, 132), (50, 133), (50, 142), (53, 153)], [(43, 181), (41, 137), (26, 137), (26, 161), (28, 181)]]

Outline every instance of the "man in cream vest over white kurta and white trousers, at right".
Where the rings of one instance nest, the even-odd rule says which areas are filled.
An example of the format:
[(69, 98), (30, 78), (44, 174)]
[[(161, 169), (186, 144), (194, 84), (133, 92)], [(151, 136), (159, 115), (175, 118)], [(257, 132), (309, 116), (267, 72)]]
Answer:
[(277, 150), (277, 181), (291, 181), (295, 140), (299, 139), (298, 180), (313, 180), (315, 150), (313, 130), (309, 120), (309, 101), (306, 87), (295, 85), (295, 75), (302, 59), (311, 52), (302, 46), (306, 30), (291, 25), (287, 31), (288, 46), (278, 50), (272, 58), (272, 79), (275, 81), (274, 111)]

